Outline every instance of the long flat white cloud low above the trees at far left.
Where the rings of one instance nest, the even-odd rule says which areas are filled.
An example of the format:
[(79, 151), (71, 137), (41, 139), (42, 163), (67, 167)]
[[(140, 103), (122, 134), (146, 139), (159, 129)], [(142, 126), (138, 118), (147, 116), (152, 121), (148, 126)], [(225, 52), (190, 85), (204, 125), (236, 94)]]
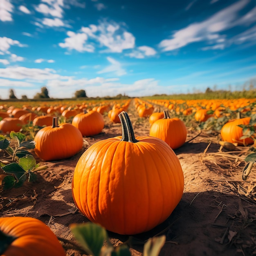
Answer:
[(28, 67), (0, 68), (0, 77), (9, 79), (33, 79), (36, 81), (70, 78), (69, 76), (61, 76), (56, 74), (56, 71), (53, 69), (38, 69)]

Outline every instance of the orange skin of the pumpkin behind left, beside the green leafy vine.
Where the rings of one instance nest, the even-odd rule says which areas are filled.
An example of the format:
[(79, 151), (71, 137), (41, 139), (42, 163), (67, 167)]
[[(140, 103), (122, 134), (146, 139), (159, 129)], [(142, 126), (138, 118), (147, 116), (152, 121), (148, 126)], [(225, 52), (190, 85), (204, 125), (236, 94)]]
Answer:
[(83, 147), (83, 136), (72, 124), (46, 126), (38, 131), (34, 141), (35, 153), (45, 161), (72, 157)]

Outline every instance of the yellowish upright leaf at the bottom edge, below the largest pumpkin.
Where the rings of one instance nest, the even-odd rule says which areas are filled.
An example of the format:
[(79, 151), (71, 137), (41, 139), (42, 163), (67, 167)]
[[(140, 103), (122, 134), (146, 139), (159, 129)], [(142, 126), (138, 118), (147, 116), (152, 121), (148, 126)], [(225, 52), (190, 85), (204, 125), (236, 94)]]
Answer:
[(150, 238), (144, 245), (143, 256), (157, 256), (164, 246), (165, 236)]

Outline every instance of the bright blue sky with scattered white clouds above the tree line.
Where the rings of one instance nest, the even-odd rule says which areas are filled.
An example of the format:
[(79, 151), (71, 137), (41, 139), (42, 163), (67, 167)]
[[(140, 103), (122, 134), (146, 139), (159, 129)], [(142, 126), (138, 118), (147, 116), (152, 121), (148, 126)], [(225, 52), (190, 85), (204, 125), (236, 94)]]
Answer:
[(0, 98), (242, 90), (255, 0), (1, 0)]

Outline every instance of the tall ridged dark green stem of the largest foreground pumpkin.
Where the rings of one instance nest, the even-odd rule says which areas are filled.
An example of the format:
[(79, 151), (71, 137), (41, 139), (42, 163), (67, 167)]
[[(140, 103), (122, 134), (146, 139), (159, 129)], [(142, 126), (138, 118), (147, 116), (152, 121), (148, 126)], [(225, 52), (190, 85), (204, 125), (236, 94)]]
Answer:
[(121, 141), (128, 141), (128, 142), (132, 142), (132, 143), (138, 142), (138, 140), (135, 139), (134, 131), (132, 128), (132, 123), (130, 121), (128, 113), (125, 111), (122, 111), (118, 116), (120, 118), (121, 126), (122, 126)]

